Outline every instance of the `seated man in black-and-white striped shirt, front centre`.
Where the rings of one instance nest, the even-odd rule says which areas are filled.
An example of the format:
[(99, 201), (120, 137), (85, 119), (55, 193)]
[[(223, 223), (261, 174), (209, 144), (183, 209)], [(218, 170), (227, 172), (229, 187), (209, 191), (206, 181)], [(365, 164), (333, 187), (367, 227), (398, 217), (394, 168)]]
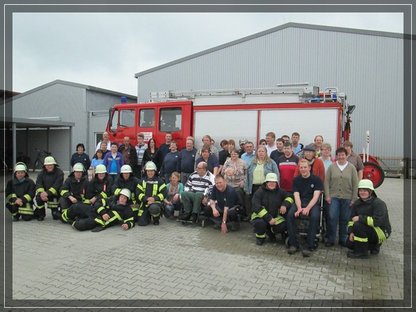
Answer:
[(214, 174), (208, 171), (208, 164), (200, 162), (185, 184), (182, 193), (182, 202), (184, 205), (184, 214), (180, 216), (178, 221), (196, 222), (198, 211), (201, 205), (208, 205), (209, 194), (215, 185)]

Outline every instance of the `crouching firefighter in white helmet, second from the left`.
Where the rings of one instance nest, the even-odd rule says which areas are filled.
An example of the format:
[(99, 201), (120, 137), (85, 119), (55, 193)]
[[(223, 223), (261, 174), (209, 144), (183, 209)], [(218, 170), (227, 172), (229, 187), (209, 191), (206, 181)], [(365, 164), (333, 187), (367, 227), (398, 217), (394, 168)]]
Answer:
[(64, 172), (58, 168), (55, 158), (46, 157), (44, 167), (36, 179), (35, 216), (38, 221), (43, 221), (46, 216), (45, 204), (48, 209), (51, 209), (53, 220), (60, 218), (58, 199), (63, 182)]

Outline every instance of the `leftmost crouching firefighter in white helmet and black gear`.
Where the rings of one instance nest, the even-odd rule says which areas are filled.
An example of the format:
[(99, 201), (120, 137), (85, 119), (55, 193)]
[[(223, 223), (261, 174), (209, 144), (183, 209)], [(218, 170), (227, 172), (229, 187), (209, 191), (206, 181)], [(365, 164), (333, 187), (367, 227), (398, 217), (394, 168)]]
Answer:
[(35, 182), (29, 178), (28, 168), (23, 162), (16, 164), (15, 175), (7, 182), (6, 198), (6, 207), (13, 221), (18, 221), (20, 216), (25, 221), (32, 220)]

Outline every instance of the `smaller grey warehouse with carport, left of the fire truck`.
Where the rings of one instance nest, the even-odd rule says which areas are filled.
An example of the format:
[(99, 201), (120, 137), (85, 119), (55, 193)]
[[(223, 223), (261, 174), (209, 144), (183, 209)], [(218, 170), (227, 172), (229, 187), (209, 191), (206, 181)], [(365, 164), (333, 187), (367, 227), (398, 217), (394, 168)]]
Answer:
[[(30, 157), (32, 168), (37, 150), (50, 152), (63, 170), (69, 170), (76, 145), (83, 143), (92, 158), (107, 125), (108, 110), (121, 102), (137, 103), (137, 97), (63, 80), (55, 80), (6, 101), (12, 117), (6, 116), (6, 146), (15, 142), (15, 155)], [(15, 134), (15, 135), (14, 135)]]

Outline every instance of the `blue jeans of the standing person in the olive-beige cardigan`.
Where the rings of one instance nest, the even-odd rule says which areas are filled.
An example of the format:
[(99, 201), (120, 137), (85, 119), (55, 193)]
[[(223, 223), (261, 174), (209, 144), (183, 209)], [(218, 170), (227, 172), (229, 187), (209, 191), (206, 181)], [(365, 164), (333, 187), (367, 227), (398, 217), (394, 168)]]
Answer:
[(345, 243), (347, 241), (347, 225), (349, 221), (349, 214), (351, 213), (351, 207), (349, 204), (351, 200), (343, 198), (331, 197), (331, 204), (328, 209), (329, 223), (328, 223), (328, 241), (329, 243), (335, 243), (336, 238), (336, 226), (340, 225), (338, 232), (338, 240)]

